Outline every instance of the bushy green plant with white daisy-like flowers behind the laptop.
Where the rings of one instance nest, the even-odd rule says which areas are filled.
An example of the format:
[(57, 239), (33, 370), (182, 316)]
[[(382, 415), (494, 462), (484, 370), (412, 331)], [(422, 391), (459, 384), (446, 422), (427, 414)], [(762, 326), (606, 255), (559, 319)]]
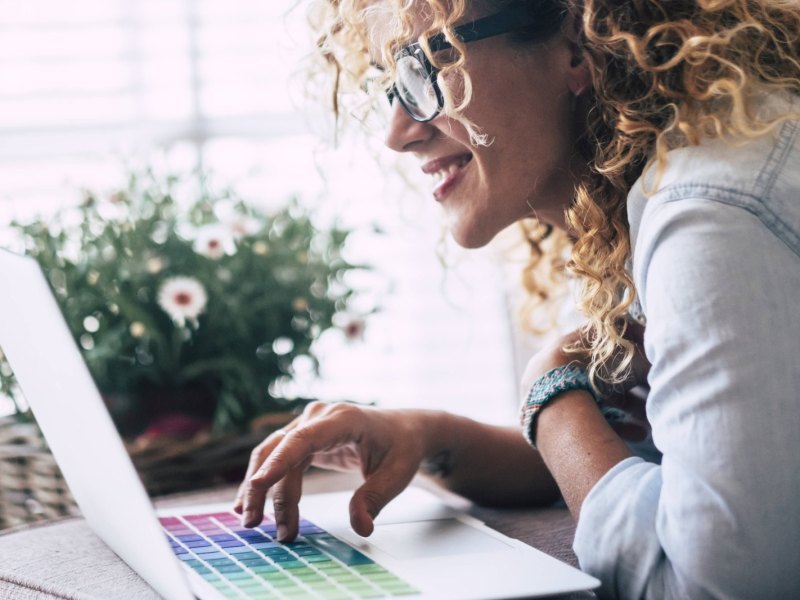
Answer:
[[(363, 268), (342, 256), (349, 231), (316, 226), (295, 199), (267, 213), (201, 186), (181, 203), (184, 183), (135, 174), (104, 199), (86, 192), (51, 220), (12, 224), (139, 466), (166, 468), (161, 480), (166, 457), (224, 470), (185, 450), (246, 451), (258, 423), (292, 417), (304, 400), (277, 384), (298, 360), (316, 368), (313, 342), (349, 312), (344, 275)], [(1, 355), (0, 375), (13, 397)]]

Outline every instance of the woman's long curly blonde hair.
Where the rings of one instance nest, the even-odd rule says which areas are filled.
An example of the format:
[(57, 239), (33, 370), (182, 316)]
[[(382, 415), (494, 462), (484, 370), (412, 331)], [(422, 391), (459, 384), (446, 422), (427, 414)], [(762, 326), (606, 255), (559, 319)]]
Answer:
[[(485, 2), (487, 7), (502, 1)], [(584, 56), (592, 71), (585, 152), (590, 175), (567, 211), (574, 239), (567, 268), (581, 284), (579, 308), (588, 321), (581, 343), (568, 348), (590, 364), (594, 381), (615, 383), (628, 374), (635, 347), (626, 339), (636, 290), (626, 203), (645, 168), (661, 172), (667, 153), (704, 138), (761, 136), (797, 114), (759, 116), (751, 100), (761, 94), (800, 94), (800, 4), (797, 0), (541, 0), (560, 3), (581, 19)], [(345, 87), (362, 85), (369, 48), (380, 48), (384, 84), (391, 80), (393, 48), (412, 35), (411, 7), (426, 11), (430, 26), (419, 39), (444, 32), (455, 47), (430, 59), (460, 82), (459, 98), (447, 96), (444, 112), (464, 122), (474, 143), (485, 143), (480, 123), (463, 119), (471, 81), (463, 69), (464, 45), (453, 25), (466, 0), (319, 0), (314, 25), (319, 47), (334, 70), (334, 109)], [(377, 8), (378, 6), (383, 8)], [(392, 33), (368, 39), (370, 11), (387, 10)], [(373, 50), (374, 51), (374, 50)], [(546, 302), (563, 265), (556, 250), (523, 222), (531, 244), (525, 287), (534, 304)], [(563, 248), (564, 237), (560, 244)]]

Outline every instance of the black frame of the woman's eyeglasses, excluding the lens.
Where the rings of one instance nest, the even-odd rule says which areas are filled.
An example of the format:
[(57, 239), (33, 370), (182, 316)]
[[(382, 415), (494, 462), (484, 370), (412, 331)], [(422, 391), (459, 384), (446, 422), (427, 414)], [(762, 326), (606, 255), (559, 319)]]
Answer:
[[(524, 31), (527, 36), (536, 37), (554, 31), (561, 25), (565, 14), (566, 11), (562, 6), (559, 6), (558, 2), (551, 0), (522, 0), (511, 3), (498, 13), (453, 28), (453, 35), (465, 44), (511, 32)], [(453, 44), (447, 41), (444, 33), (438, 33), (428, 38), (428, 47), (431, 52), (439, 52), (452, 48)], [(415, 121), (420, 123), (433, 121), (444, 108), (444, 95), (439, 87), (437, 77), (440, 69), (431, 64), (422, 44), (419, 42), (404, 46), (395, 54), (395, 62), (406, 56), (414, 58), (422, 65), (427, 79), (436, 94), (436, 111), (432, 116), (424, 119), (415, 116), (403, 101), (402, 94), (398, 93), (397, 84), (392, 84), (386, 90), (386, 95), (390, 103), (397, 98), (403, 110)]]

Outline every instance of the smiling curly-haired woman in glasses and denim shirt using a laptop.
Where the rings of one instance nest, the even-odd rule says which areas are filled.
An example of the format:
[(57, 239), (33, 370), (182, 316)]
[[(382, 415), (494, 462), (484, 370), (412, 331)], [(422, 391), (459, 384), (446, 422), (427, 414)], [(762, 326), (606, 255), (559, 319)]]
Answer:
[[(321, 10), (337, 81), (378, 69), (386, 143), (434, 177), (456, 241), (479, 247), (531, 218), (563, 232), (587, 323), (531, 359), (524, 435), (441, 412), (312, 404), (253, 451), (236, 501), (245, 523), (272, 490), (280, 537), (293, 538), (316, 464), (364, 473), (351, 521), (369, 535), (422, 469), (481, 503), (560, 494), (606, 595), (797, 597), (798, 4)], [(621, 398), (637, 408), (627, 392), (642, 384), (660, 464), (611, 418)]]

